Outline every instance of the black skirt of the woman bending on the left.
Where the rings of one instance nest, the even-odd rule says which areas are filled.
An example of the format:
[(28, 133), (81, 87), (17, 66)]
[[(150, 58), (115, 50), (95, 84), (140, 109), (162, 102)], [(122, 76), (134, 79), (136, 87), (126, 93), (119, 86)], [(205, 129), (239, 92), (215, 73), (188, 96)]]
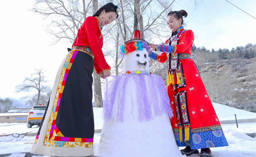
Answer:
[[(62, 90), (61, 98), (58, 99), (58, 110), (55, 120), (54, 131), (58, 132), (60, 137), (69, 138), (93, 138), (94, 135), (94, 117), (92, 109), (92, 73), (93, 73), (93, 57), (83, 51), (77, 52), (68, 75), (66, 77), (65, 86)], [(73, 55), (74, 56), (74, 55)], [(70, 63), (67, 66), (70, 66)], [(65, 64), (64, 64), (65, 66)], [(66, 71), (67, 71), (66, 70)], [(64, 77), (65, 78), (65, 77)], [(64, 82), (64, 80), (63, 80)], [(62, 86), (63, 87), (63, 86)], [(52, 91), (53, 92), (53, 91)], [(56, 91), (54, 91), (56, 92)], [(40, 133), (45, 115), (52, 112), (47, 108), (44, 113), (43, 120), (38, 130)], [(56, 114), (55, 111), (55, 114)], [(53, 120), (54, 121), (54, 120)], [(50, 122), (50, 121), (49, 121)], [(53, 125), (54, 122), (52, 122)], [(62, 140), (63, 141), (63, 140)], [(69, 140), (70, 141), (70, 140)], [(85, 141), (84, 141), (85, 142)], [(91, 142), (91, 141), (90, 141)]]

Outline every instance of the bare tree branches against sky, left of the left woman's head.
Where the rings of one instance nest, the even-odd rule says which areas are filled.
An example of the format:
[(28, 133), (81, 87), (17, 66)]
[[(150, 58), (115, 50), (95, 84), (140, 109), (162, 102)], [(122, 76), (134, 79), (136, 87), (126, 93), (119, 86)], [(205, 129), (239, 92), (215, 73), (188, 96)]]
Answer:
[(54, 36), (53, 44), (60, 40), (73, 43), (78, 29), (92, 12), (92, 0), (35, 0), (34, 11), (51, 19), (47, 31)]

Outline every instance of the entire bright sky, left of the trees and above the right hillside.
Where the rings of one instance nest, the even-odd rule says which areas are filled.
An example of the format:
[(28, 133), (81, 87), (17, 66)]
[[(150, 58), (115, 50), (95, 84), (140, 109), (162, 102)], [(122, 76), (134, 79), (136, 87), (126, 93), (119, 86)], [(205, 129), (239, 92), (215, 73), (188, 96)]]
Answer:
[[(255, 0), (229, 0), (256, 17)], [(20, 98), (27, 93), (13, 93), (14, 86), (22, 83), (34, 68), (44, 68), (53, 83), (56, 72), (67, 48), (71, 44), (58, 43), (49, 46), (52, 36), (45, 31), (44, 20), (28, 11), (33, 0), (3, 1), (0, 10), (1, 76), (0, 97)], [(173, 10), (186, 10), (186, 29), (198, 36), (194, 44), (207, 49), (223, 49), (256, 44), (256, 19), (240, 11), (225, 0), (204, 0), (194, 9), (189, 0), (180, 0)]]

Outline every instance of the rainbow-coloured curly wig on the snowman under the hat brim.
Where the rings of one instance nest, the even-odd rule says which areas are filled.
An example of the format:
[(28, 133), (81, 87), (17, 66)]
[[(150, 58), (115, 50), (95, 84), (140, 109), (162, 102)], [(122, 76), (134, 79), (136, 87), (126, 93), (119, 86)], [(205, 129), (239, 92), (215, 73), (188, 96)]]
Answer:
[(124, 55), (131, 53), (135, 50), (142, 51), (143, 48), (145, 48), (148, 53), (150, 52), (148, 43), (146, 41), (129, 42), (128, 44), (121, 45), (120, 46), (120, 57), (124, 58)]

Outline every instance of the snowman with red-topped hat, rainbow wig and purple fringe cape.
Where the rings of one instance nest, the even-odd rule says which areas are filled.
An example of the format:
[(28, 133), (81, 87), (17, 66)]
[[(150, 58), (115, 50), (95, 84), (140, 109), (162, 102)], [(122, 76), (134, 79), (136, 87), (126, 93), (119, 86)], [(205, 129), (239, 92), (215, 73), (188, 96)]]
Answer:
[[(134, 40), (120, 47), (124, 72), (108, 81), (99, 157), (177, 157), (170, 118), (173, 116), (164, 81), (149, 72), (148, 43)], [(137, 37), (136, 37), (137, 36)]]

